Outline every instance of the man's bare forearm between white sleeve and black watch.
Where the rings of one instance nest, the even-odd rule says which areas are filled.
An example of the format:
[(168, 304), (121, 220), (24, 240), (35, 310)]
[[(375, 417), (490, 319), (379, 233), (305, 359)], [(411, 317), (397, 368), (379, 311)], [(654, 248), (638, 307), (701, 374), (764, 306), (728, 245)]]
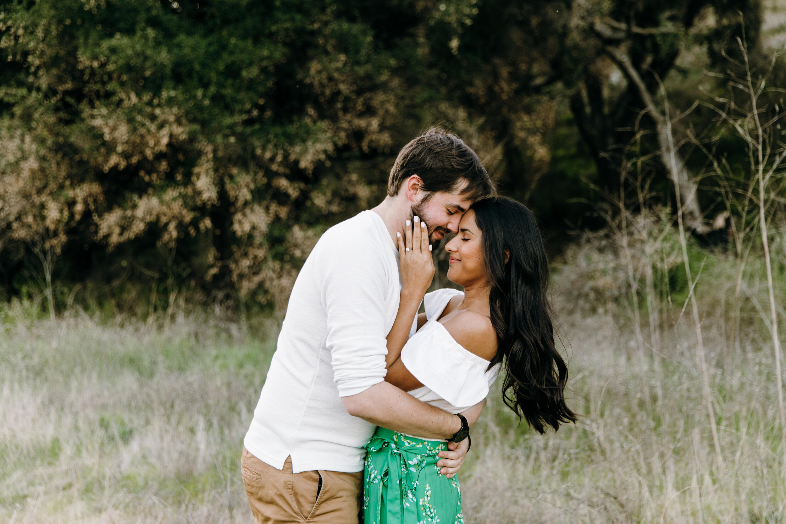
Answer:
[(461, 420), (457, 416), (424, 404), (386, 382), (377, 383), (351, 397), (343, 397), (341, 401), (350, 415), (400, 433), (450, 438), (461, 429)]

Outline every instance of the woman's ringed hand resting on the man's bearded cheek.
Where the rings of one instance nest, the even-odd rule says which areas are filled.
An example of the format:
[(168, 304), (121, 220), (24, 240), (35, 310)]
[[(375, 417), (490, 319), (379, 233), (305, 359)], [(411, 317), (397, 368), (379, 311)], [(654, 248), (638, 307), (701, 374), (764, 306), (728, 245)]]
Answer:
[(402, 292), (422, 297), (434, 279), (428, 227), (419, 217), (414, 217), (413, 220), (406, 221), (403, 229), (403, 233), (396, 233), (399, 241)]

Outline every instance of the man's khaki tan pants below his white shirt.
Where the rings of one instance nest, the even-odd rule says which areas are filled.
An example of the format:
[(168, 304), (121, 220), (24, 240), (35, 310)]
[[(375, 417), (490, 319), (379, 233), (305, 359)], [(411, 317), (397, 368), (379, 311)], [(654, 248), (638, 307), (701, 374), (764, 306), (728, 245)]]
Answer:
[[(308, 522), (357, 524), (363, 495), (363, 472), (301, 471), (292, 473), (265, 464), (243, 447), (243, 484), (255, 524)], [(319, 488), (319, 479), (322, 486)]]

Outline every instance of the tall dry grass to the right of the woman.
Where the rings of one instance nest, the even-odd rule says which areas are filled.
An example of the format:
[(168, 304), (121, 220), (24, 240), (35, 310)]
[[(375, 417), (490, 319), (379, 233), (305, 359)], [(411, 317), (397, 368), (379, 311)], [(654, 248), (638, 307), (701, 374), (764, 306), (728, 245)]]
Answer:
[[(733, 253), (695, 243), (687, 250), (716, 444), (678, 232), (670, 214), (623, 213), (626, 229), (618, 216), (607, 231), (585, 236), (556, 277), (572, 405), (582, 418), (541, 437), (517, 426), (492, 395), (464, 485), (468, 520), (784, 522), (766, 261), (747, 261), (744, 297), (735, 301)], [(773, 245), (783, 260), (783, 230)]]

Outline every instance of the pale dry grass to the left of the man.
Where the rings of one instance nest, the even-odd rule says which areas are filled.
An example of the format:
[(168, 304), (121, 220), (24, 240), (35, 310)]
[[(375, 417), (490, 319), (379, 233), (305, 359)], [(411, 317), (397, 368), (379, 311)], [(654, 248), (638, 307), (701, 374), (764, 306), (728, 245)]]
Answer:
[(237, 463), (270, 339), (0, 311), (0, 522), (249, 522)]

